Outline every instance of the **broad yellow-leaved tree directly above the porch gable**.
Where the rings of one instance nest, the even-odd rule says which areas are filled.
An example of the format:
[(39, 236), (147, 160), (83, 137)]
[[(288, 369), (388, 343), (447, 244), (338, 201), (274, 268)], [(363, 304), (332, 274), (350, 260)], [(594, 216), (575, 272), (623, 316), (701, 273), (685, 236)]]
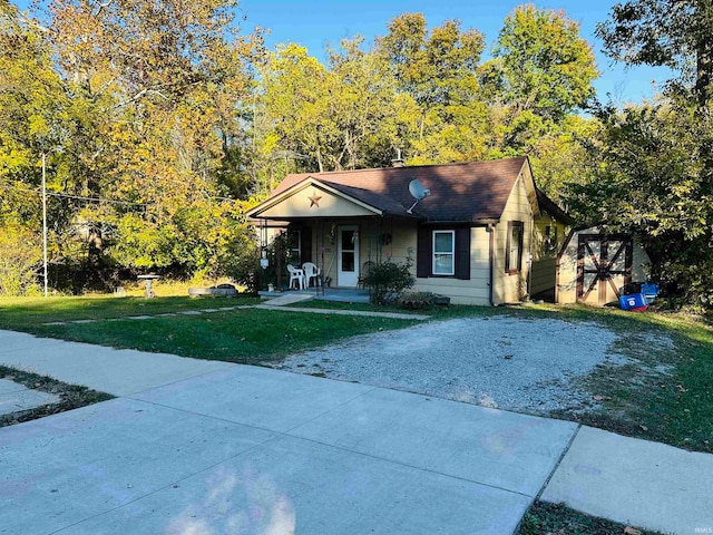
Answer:
[(388, 165), (395, 154), (399, 117), (408, 100), (383, 60), (344, 39), (323, 65), (304, 47), (279, 47), (262, 72), (261, 113), (267, 153), (302, 155), (322, 171)]

